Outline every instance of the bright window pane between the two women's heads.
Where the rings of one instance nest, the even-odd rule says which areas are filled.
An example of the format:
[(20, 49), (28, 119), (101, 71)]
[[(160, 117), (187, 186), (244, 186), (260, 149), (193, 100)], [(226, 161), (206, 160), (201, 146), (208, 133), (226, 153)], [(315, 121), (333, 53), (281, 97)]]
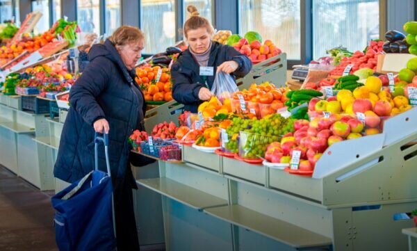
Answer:
[(175, 43), (175, 1), (142, 0), (142, 31), (145, 33), (145, 54), (165, 51)]

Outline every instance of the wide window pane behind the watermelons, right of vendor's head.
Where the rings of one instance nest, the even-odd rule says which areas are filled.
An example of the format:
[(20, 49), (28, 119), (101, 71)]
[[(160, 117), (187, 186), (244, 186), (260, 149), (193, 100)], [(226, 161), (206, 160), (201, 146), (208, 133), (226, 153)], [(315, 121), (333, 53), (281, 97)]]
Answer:
[(257, 31), (287, 58), (300, 60), (300, 0), (239, 0), (240, 35)]

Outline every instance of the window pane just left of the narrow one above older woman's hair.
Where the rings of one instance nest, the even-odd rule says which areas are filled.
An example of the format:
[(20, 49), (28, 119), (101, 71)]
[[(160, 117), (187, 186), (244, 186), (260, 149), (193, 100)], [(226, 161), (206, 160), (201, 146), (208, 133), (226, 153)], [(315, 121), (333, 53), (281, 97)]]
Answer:
[(77, 0), (77, 21), (86, 33), (100, 34), (100, 0)]

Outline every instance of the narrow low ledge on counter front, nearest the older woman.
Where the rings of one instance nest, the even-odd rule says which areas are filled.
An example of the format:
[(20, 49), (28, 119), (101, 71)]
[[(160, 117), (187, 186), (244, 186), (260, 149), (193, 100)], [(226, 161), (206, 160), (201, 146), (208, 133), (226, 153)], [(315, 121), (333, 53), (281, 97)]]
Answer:
[(198, 189), (183, 185), (168, 178), (138, 179), (136, 181), (156, 193), (161, 193), (172, 200), (176, 200), (193, 209), (227, 205), (227, 200), (204, 193)]

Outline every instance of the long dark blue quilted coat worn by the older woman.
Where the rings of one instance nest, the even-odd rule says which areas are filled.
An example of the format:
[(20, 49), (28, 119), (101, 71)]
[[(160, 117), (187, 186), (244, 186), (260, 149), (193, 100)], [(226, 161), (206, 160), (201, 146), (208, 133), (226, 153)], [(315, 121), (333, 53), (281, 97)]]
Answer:
[[(94, 168), (94, 128), (100, 118), (109, 123), (109, 157), (113, 178), (125, 178), (133, 129), (143, 130), (145, 102), (138, 85), (110, 40), (95, 44), (90, 65), (70, 91), (70, 111), (63, 127), (54, 176), (74, 182)], [(99, 169), (106, 171), (104, 147), (99, 147)]]

